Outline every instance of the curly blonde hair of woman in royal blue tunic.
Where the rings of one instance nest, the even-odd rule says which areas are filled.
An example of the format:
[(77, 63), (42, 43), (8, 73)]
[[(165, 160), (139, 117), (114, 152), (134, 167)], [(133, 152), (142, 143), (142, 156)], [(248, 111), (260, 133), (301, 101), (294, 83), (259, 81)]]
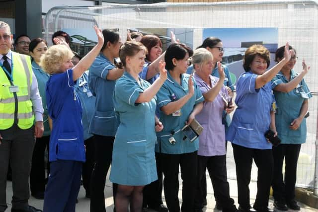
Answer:
[(64, 45), (51, 46), (45, 54), (41, 56), (40, 67), (49, 73), (55, 74), (61, 72), (63, 63), (74, 57), (73, 52)]

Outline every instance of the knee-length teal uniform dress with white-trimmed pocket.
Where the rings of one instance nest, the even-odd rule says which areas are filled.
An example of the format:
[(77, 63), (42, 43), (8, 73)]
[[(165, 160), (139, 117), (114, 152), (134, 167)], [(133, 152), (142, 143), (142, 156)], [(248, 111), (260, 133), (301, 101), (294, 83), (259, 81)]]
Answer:
[(113, 102), (120, 124), (114, 141), (110, 180), (120, 185), (147, 185), (158, 179), (155, 159), (156, 100), (135, 103), (150, 86), (125, 71), (116, 81)]

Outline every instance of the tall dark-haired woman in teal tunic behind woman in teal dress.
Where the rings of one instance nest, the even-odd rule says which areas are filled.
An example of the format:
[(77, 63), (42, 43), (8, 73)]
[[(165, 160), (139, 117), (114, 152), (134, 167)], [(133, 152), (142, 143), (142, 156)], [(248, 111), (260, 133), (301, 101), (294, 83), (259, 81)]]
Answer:
[[(113, 144), (118, 128), (114, 112), (113, 94), (116, 80), (123, 75), (122, 67), (114, 65), (118, 58), (121, 37), (117, 31), (103, 30), (105, 38), (100, 54), (89, 68), (88, 86), (96, 97), (94, 115), (88, 132), (94, 135), (95, 165), (91, 173), (90, 211), (106, 212), (104, 188), (106, 176), (112, 161)], [(113, 184), (113, 197), (116, 185)]]

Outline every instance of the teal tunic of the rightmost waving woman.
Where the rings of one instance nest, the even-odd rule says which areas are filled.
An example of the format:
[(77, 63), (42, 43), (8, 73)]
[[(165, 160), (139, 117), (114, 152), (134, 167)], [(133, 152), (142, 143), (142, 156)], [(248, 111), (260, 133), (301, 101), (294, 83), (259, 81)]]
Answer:
[[(297, 76), (297, 73), (292, 70), (290, 73), (290, 80), (293, 80)], [(280, 71), (272, 79), (272, 89), (281, 84), (289, 82), (284, 74)], [(302, 92), (305, 93), (304, 97)], [(303, 119), (301, 125), (297, 130), (289, 129), (290, 123), (299, 116), (303, 102), (305, 99), (312, 97), (312, 94), (303, 79), (299, 85), (292, 91), (285, 93), (274, 90), (277, 109), (275, 113), (276, 131), (281, 143), (288, 144), (301, 144), (306, 142), (307, 127), (306, 119)]]

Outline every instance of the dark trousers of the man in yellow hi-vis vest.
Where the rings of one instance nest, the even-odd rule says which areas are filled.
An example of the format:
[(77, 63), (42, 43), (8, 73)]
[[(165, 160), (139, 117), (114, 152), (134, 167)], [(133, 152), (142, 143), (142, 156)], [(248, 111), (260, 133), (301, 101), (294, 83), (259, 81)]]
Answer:
[(0, 211), (6, 205), (6, 175), (10, 161), (12, 169), (12, 209), (23, 209), (28, 205), (30, 197), (29, 175), (31, 158), (35, 145), (34, 127), (21, 130), (13, 125), (7, 130), (0, 130)]

